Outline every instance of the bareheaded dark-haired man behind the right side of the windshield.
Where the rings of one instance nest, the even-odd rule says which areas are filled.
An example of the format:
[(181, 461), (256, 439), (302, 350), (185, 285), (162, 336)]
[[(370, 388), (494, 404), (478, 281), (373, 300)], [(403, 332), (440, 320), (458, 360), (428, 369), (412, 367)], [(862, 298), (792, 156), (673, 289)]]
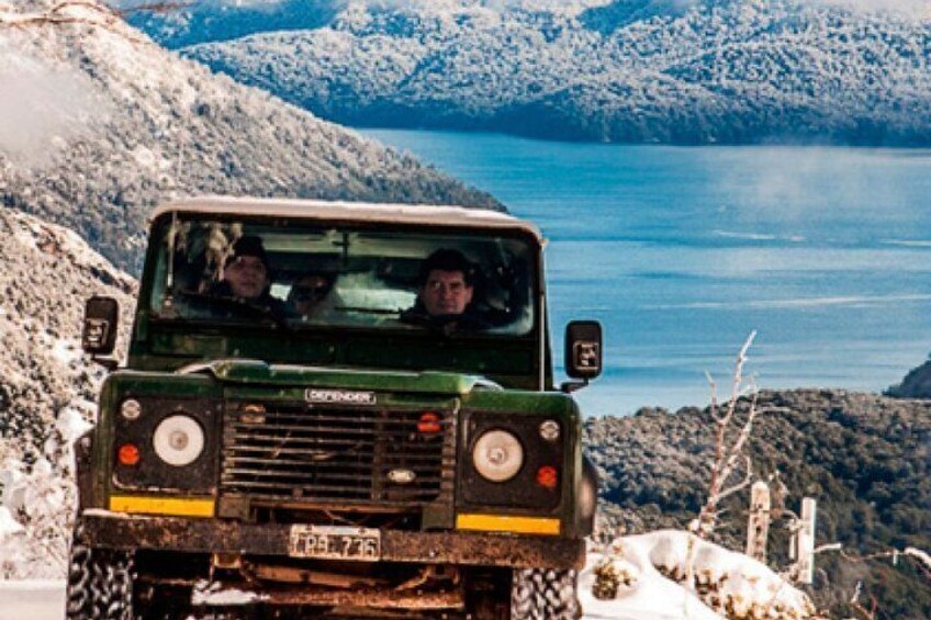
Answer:
[(417, 301), (401, 314), (401, 320), (444, 330), (487, 327), (471, 307), (474, 279), (475, 266), (462, 252), (436, 250), (424, 260)]

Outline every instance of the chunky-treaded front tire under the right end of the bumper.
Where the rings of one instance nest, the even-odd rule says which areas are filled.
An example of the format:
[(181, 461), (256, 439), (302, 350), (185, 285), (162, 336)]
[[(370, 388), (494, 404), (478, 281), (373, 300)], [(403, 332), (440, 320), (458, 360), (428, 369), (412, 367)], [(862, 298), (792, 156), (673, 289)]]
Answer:
[(575, 571), (527, 568), (514, 571), (511, 620), (577, 620), (582, 617)]

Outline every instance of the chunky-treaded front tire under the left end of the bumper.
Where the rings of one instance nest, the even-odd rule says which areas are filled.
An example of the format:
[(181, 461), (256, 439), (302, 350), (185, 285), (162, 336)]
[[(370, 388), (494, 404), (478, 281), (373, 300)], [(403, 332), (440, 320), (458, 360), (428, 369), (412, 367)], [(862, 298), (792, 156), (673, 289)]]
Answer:
[(133, 557), (130, 552), (94, 549), (76, 532), (68, 560), (68, 620), (132, 620)]

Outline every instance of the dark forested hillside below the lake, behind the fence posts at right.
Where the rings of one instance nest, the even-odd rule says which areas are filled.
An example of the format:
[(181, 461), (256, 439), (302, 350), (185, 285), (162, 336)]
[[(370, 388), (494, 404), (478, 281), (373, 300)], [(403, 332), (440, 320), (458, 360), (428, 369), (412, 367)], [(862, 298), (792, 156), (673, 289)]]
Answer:
[[(774, 491), (798, 511), (818, 503), (816, 544), (840, 542), (852, 556), (907, 546), (931, 549), (931, 402), (898, 401), (839, 391), (764, 392), (747, 452), (760, 478), (778, 473)], [(675, 414), (642, 409), (629, 418), (586, 422), (587, 452), (603, 472), (606, 520), (628, 532), (684, 527), (708, 488), (714, 425), (707, 409)], [(727, 501), (719, 529), (743, 549), (748, 493)], [(771, 564), (788, 564), (788, 537), (773, 527)], [(855, 617), (846, 602), (859, 580), (875, 596), (877, 618), (931, 617), (931, 587), (909, 562), (818, 555), (811, 594), (838, 618)], [(867, 598), (868, 600), (868, 598)]]

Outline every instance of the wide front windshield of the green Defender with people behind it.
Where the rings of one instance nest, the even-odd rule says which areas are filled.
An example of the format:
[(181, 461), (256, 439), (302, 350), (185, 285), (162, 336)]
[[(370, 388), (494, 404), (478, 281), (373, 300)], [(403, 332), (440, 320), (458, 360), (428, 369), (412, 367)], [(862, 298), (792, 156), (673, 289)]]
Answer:
[(520, 336), (537, 315), (523, 237), (178, 216), (155, 241), (156, 318)]

